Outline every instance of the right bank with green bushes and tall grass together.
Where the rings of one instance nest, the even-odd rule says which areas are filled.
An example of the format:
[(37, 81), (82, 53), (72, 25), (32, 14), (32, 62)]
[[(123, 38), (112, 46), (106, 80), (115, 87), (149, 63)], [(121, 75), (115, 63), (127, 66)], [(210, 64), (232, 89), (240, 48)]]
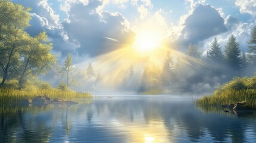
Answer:
[(249, 107), (256, 110), (256, 76), (236, 77), (220, 86), (214, 94), (196, 100), (198, 105), (229, 105), (247, 101)]

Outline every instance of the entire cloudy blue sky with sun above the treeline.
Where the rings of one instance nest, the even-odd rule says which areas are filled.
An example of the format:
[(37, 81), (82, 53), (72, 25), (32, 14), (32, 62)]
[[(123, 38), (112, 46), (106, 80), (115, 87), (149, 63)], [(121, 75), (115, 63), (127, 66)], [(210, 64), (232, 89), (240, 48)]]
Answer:
[(45, 30), (58, 60), (70, 52), (76, 64), (133, 48), (137, 39), (149, 35), (168, 48), (186, 51), (195, 43), (206, 51), (215, 37), (224, 49), (233, 34), (246, 52), (256, 26), (256, 0), (11, 1), (32, 8), (26, 29), (31, 36)]

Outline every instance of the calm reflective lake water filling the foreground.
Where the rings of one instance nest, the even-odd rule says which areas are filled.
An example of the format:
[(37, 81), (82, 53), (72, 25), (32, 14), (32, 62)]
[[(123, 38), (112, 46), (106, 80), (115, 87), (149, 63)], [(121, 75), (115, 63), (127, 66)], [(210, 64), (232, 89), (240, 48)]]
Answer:
[(0, 142), (255, 142), (255, 113), (191, 96), (101, 96), (69, 107), (1, 107)]

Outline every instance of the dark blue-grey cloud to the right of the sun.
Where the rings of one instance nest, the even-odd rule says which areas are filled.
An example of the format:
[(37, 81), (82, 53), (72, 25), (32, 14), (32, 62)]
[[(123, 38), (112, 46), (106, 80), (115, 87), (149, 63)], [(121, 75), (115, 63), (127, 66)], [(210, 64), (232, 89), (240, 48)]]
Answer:
[(198, 43), (227, 32), (223, 17), (211, 5), (196, 4), (180, 23), (184, 26), (179, 39), (182, 43)]

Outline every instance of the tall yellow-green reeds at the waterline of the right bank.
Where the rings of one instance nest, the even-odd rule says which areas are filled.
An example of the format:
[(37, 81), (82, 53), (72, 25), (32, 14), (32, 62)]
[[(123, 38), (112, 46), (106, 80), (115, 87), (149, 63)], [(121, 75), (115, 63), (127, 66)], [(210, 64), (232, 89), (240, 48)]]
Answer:
[(199, 105), (223, 105), (240, 101), (248, 101), (249, 105), (256, 109), (256, 89), (235, 90), (229, 89), (222, 92), (215, 92), (211, 96), (199, 98), (196, 104)]

